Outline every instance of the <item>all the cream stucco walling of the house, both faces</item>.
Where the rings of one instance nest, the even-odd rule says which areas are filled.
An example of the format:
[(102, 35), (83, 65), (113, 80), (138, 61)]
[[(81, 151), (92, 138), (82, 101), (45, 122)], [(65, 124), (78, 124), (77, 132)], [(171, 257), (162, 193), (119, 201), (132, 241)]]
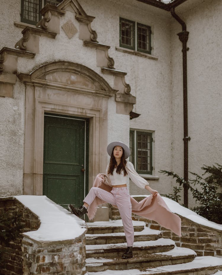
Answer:
[[(14, 25), (20, 20), (19, 1), (3, 0), (0, 48), (12, 47), (22, 37), (21, 28)], [(117, 139), (128, 144), (129, 127), (154, 131), (155, 176), (150, 186), (160, 193), (172, 191), (174, 182), (158, 173), (174, 170), (183, 175), (183, 86), (182, 45), (176, 35), (181, 26), (169, 12), (151, 7), (139, 1), (80, 0), (88, 15), (95, 16), (92, 28), (101, 44), (111, 46), (110, 57), (117, 70), (126, 71), (126, 83), (136, 96), (133, 111), (140, 113), (137, 119), (116, 114), (114, 97), (108, 100), (108, 143)], [(219, 0), (187, 0), (176, 13), (186, 22), (189, 31), (188, 47), (188, 121), (189, 121), (189, 170), (201, 172), (203, 164), (220, 162), (221, 121), (221, 9)], [(116, 51), (119, 47), (119, 17), (128, 18), (152, 26), (152, 55), (148, 59)], [(75, 14), (67, 11), (61, 17), (60, 26), (71, 19), (75, 27), (79, 23)], [(42, 64), (58, 60), (81, 63), (99, 73), (113, 87), (113, 76), (101, 73), (96, 66), (96, 49), (83, 47), (76, 33), (68, 39), (60, 28), (55, 39), (40, 37), (40, 53), (33, 59), (18, 58), (18, 73), (30, 73)], [(22, 194), (24, 155), (25, 87), (16, 83), (14, 98), (0, 97), (1, 105), (1, 195)], [(13, 161), (12, 161), (13, 160)], [(108, 161), (108, 159), (107, 159)], [(103, 172), (103, 171), (102, 171)], [(131, 194), (148, 194), (131, 185)]]

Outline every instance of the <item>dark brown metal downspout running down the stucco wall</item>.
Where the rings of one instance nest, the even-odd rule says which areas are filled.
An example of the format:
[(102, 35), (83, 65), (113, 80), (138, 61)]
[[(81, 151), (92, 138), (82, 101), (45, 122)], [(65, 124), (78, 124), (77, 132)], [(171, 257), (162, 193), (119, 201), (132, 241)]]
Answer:
[[(184, 180), (188, 182), (188, 111), (187, 111), (187, 57), (186, 52), (189, 48), (186, 47), (189, 31), (186, 31), (185, 22), (175, 13), (175, 8), (170, 10), (171, 15), (181, 24), (182, 31), (177, 33), (182, 42), (183, 53), (183, 97), (184, 97)], [(188, 207), (188, 187), (184, 186), (184, 205)]]

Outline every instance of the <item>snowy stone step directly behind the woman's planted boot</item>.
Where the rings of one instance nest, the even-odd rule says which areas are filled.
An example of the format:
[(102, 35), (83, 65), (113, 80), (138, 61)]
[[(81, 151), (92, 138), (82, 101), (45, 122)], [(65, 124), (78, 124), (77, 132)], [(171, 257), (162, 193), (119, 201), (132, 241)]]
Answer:
[[(126, 243), (86, 245), (86, 258), (121, 258), (126, 247)], [(165, 252), (172, 250), (174, 247), (174, 241), (164, 238), (155, 241), (134, 242), (133, 255), (141, 254), (141, 252), (144, 254)]]

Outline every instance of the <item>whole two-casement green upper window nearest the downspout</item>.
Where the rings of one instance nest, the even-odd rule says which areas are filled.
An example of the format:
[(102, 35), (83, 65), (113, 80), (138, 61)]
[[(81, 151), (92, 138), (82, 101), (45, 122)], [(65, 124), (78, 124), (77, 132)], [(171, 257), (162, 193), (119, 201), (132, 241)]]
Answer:
[(151, 27), (120, 17), (120, 47), (151, 54)]

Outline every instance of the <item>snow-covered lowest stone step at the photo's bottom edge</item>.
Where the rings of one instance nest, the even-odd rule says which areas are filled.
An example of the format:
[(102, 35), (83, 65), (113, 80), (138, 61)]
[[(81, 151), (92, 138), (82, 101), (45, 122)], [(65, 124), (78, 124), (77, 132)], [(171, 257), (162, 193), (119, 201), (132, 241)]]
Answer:
[[(220, 272), (217, 272), (220, 270)], [(86, 272), (86, 275), (222, 275), (222, 258), (212, 256), (196, 257), (192, 262), (166, 265), (156, 268), (147, 268), (143, 271), (139, 269), (127, 270), (106, 270), (99, 272)]]

